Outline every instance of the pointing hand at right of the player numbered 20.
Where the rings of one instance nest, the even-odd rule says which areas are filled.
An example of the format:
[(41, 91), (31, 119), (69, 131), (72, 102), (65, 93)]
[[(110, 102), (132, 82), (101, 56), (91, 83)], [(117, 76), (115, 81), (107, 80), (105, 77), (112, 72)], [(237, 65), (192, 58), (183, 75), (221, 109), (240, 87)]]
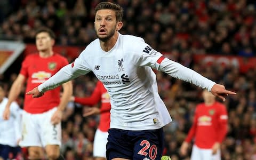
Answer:
[(211, 89), (211, 93), (213, 95), (215, 95), (216, 97), (222, 99), (223, 102), (226, 101), (226, 96), (228, 96), (229, 94), (235, 95), (235, 92), (232, 91), (228, 91), (225, 89), (225, 86), (221, 85), (221, 84), (214, 84), (212, 89)]

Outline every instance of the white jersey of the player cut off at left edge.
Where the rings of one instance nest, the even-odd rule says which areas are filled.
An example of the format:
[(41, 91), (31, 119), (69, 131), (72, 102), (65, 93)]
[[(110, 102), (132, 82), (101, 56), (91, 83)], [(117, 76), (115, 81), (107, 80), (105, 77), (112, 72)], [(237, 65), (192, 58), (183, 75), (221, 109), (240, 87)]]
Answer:
[(21, 109), (16, 102), (10, 106), (10, 118), (3, 119), (3, 112), (8, 99), (4, 98), (0, 103), (0, 144), (17, 147), (17, 141), (21, 138)]

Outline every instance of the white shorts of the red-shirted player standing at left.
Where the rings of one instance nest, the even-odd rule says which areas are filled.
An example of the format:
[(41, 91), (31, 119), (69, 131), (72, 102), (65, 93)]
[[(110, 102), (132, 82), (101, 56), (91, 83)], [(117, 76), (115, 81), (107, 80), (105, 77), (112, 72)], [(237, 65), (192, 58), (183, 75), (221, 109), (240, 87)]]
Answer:
[(57, 107), (42, 114), (22, 113), (21, 147), (45, 147), (47, 145), (61, 145), (61, 124), (53, 125), (51, 117)]

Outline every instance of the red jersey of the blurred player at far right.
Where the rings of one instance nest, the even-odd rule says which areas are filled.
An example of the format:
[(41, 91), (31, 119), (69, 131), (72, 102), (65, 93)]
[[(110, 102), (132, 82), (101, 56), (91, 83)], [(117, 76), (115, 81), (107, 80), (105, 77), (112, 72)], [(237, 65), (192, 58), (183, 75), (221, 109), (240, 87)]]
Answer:
[(200, 103), (196, 107), (194, 123), (185, 141), (190, 142), (195, 137), (195, 145), (210, 149), (215, 142), (222, 142), (227, 134), (227, 109), (222, 103), (215, 102), (211, 106)]

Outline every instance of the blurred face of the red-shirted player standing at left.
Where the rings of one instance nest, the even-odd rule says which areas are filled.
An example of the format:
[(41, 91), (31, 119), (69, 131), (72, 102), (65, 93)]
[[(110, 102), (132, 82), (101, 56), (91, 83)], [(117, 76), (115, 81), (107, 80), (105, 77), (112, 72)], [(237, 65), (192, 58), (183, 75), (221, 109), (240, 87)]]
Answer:
[(47, 32), (42, 32), (36, 35), (36, 47), (38, 51), (46, 51), (51, 49), (54, 40)]

